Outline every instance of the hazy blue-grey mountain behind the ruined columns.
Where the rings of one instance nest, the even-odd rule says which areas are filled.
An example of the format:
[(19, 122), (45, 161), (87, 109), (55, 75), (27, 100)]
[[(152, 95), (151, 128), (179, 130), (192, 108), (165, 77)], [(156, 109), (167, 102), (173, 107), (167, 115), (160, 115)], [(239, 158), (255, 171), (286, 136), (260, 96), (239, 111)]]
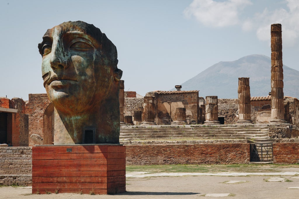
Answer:
[[(182, 90), (199, 90), (199, 96), (238, 98), (238, 78), (249, 77), (251, 96), (271, 92), (271, 58), (248, 55), (236, 61), (220, 61), (184, 82)], [(284, 96), (299, 98), (299, 71), (283, 65)], [(175, 89), (172, 89), (175, 90)]]

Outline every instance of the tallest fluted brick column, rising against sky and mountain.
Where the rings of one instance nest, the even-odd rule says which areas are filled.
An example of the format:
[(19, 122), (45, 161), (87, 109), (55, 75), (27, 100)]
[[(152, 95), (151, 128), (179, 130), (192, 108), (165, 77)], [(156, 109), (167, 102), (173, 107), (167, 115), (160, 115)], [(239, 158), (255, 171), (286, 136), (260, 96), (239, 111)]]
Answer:
[(281, 24), (271, 25), (271, 120), (284, 123)]

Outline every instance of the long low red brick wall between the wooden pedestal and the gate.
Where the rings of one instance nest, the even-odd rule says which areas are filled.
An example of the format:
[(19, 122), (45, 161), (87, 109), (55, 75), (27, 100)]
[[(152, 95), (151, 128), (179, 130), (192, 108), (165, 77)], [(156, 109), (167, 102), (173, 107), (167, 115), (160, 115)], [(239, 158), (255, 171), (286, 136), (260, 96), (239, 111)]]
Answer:
[(126, 146), (127, 165), (245, 164), (249, 143)]

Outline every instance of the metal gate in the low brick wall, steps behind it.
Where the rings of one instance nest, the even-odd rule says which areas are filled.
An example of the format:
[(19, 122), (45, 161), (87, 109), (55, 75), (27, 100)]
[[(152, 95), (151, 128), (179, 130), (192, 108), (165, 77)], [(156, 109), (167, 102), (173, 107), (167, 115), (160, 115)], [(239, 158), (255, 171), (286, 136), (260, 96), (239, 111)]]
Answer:
[(250, 144), (250, 161), (251, 162), (273, 161), (273, 143)]

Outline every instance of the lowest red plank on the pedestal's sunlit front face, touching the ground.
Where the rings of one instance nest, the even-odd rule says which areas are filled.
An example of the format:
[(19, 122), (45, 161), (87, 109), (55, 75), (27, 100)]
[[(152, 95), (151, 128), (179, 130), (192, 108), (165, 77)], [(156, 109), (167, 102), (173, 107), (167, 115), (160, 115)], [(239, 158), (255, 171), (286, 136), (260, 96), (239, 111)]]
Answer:
[[(38, 188), (34, 188), (32, 189), (32, 193), (36, 194)], [(116, 188), (113, 188), (116, 189)], [(90, 192), (94, 192), (94, 194), (96, 195), (103, 195), (103, 194), (108, 194), (107, 189), (38, 189), (40, 194), (46, 194), (47, 192), (51, 192), (52, 194), (55, 193), (55, 191), (57, 190), (58, 193), (77, 193), (80, 194), (81, 192), (83, 194), (90, 194)], [(122, 191), (124, 192), (124, 191)], [(120, 192), (117, 192), (120, 193)], [(112, 193), (111, 193), (112, 194)], [(59, 195), (57, 195), (57, 198)]]

